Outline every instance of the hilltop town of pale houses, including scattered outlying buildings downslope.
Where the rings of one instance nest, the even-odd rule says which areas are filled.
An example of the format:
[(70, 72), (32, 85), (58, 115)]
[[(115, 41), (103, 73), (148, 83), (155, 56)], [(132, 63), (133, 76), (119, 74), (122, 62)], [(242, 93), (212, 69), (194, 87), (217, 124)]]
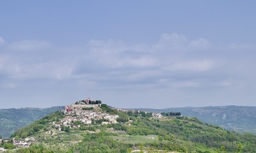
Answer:
[[(57, 113), (57, 112), (56, 112)], [(127, 126), (131, 126), (133, 120), (130, 120), (127, 115), (143, 118), (143, 117), (152, 117), (152, 118), (161, 118), (166, 113), (151, 113), (144, 112), (140, 110), (125, 110), (122, 108), (109, 108), (108, 105), (102, 104), (100, 100), (80, 100), (72, 103), (71, 105), (65, 106), (60, 112), (58, 112), (60, 117), (59, 119), (54, 119), (52, 121), (48, 120), (49, 117), (42, 119), (39, 124), (44, 124), (45, 128), (40, 134), (40, 137), (32, 137), (31, 134), (24, 136), (18, 136), (17, 138), (13, 137), (12, 140), (5, 140), (3, 144), (8, 144), (9, 146), (3, 146), (8, 149), (22, 148), (22, 147), (30, 147), (33, 143), (39, 143), (38, 138), (42, 140), (48, 140), (49, 138), (54, 138), (57, 135), (65, 135), (65, 133), (69, 133), (70, 130), (81, 130), (87, 128), (92, 128), (96, 126), (104, 126), (113, 124), (126, 124)], [(118, 114), (123, 114), (121, 117)], [(126, 115), (124, 115), (126, 114)], [(125, 117), (124, 117), (125, 116)], [(48, 121), (47, 121), (48, 120)], [(33, 131), (40, 131), (37, 129), (38, 126), (33, 128)], [(111, 128), (110, 128), (111, 129)], [(111, 130), (113, 132), (113, 130)], [(115, 131), (115, 130), (114, 130)], [(100, 129), (96, 131), (89, 130), (88, 133), (99, 133)], [(124, 131), (121, 131), (124, 133)], [(23, 137), (23, 138), (22, 138)], [(151, 137), (150, 137), (151, 138)], [(155, 138), (155, 137), (152, 137)], [(1, 142), (4, 140), (1, 140)], [(70, 141), (70, 143), (77, 144), (81, 142), (81, 140)], [(11, 144), (11, 145), (10, 145)], [(0, 151), (4, 151), (5, 149), (0, 147)]]

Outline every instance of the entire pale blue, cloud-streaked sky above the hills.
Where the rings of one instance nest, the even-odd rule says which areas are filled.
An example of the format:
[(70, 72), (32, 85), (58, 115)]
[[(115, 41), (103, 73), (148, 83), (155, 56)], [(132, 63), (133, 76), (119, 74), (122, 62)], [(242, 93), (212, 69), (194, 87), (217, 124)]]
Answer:
[(0, 1), (0, 108), (256, 106), (256, 1)]

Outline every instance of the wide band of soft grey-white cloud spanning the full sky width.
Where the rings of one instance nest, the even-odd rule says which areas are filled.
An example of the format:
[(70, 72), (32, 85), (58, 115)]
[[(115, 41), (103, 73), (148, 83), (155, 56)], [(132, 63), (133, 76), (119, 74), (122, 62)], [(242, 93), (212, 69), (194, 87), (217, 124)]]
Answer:
[(155, 94), (163, 100), (179, 100), (186, 94), (202, 100), (202, 93), (211, 96), (230, 90), (232, 95), (256, 87), (253, 48), (250, 44), (215, 47), (205, 38), (189, 40), (182, 34), (162, 34), (153, 44), (109, 39), (72, 48), (40, 40), (17, 41), (0, 48), (0, 87), (7, 92), (26, 86), (29, 94), (36, 89), (58, 92), (60, 97), (63, 92), (74, 96), (86, 92), (112, 99), (117, 94), (131, 100), (143, 95), (141, 99), (150, 101)]

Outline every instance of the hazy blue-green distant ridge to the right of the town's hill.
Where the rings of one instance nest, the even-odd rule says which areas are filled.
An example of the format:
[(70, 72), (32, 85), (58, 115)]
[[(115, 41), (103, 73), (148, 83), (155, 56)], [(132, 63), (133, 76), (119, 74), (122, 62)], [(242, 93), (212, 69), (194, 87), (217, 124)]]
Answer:
[(222, 128), (248, 132), (256, 135), (256, 107), (255, 106), (206, 106), (184, 108), (136, 108), (148, 112), (181, 112), (183, 116), (196, 117)]

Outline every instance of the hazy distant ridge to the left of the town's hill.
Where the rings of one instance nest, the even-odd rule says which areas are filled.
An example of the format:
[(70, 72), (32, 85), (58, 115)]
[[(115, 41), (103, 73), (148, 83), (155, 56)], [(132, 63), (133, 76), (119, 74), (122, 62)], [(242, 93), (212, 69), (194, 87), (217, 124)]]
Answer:
[(10, 108), (0, 109), (0, 135), (8, 138), (12, 133), (35, 120), (38, 120), (49, 113), (61, 110), (63, 106), (53, 106), (51, 108)]

